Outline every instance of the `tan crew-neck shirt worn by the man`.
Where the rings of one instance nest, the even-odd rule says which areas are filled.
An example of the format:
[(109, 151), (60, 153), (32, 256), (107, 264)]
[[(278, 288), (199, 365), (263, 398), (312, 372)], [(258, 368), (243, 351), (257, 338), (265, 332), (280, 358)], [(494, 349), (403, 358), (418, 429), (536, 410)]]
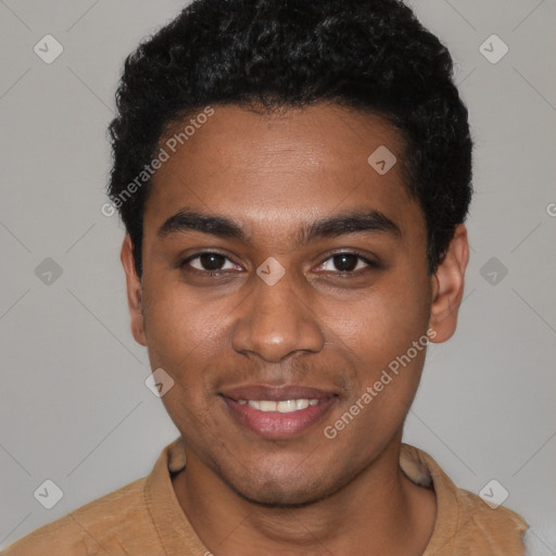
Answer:
[[(186, 466), (181, 438), (161, 453), (151, 473), (70, 511), (15, 542), (4, 556), (208, 556), (184, 514), (170, 473)], [(458, 489), (425, 452), (402, 444), (400, 466), (415, 483), (432, 485), (437, 521), (424, 556), (522, 556), (527, 522), (491, 509)]]

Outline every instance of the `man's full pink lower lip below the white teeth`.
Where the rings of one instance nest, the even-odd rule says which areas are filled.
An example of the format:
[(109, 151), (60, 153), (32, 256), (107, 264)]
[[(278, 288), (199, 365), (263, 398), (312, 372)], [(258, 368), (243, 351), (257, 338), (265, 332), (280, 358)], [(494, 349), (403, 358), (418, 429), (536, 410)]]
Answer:
[(236, 400), (222, 396), (236, 419), (266, 439), (288, 439), (301, 434), (317, 424), (336, 403), (337, 397), (327, 397), (317, 405), (292, 413), (260, 412), (249, 404), (239, 404)]

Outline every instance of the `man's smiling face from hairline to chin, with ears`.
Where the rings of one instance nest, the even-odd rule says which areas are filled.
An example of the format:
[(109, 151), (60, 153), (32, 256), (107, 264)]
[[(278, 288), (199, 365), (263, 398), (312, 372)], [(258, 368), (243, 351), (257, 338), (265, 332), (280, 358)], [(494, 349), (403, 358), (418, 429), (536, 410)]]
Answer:
[[(397, 157), (386, 174), (367, 162), (381, 146)], [(244, 498), (349, 483), (400, 438), (429, 327), (453, 331), (438, 321), (458, 292), (446, 266), (428, 274), (402, 159), (377, 116), (215, 106), (154, 176), (141, 282), (129, 238), (122, 253), (134, 334), (174, 380), (162, 400), (188, 466)]]

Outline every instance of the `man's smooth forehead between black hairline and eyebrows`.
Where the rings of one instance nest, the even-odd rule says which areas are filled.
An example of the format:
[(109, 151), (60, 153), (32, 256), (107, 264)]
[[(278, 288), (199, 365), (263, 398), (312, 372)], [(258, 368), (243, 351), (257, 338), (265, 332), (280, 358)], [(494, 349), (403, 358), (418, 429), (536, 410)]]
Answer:
[(200, 121), (193, 114), (161, 139), (169, 156), (153, 178), (146, 228), (185, 206), (245, 226), (291, 226), (362, 206), (407, 220), (416, 210), (403, 180), (404, 142), (377, 115), (338, 105), (270, 115), (215, 105)]

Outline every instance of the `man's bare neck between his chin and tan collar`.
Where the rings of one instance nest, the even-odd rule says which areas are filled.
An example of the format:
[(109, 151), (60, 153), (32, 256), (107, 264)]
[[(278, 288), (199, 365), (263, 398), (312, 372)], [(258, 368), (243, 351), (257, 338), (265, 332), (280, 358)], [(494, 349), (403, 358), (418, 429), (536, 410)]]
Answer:
[(248, 502), (193, 453), (174, 479), (189, 521), (218, 556), (285, 554), (421, 555), (435, 517), (433, 491), (400, 470), (401, 433), (334, 494), (303, 507)]

